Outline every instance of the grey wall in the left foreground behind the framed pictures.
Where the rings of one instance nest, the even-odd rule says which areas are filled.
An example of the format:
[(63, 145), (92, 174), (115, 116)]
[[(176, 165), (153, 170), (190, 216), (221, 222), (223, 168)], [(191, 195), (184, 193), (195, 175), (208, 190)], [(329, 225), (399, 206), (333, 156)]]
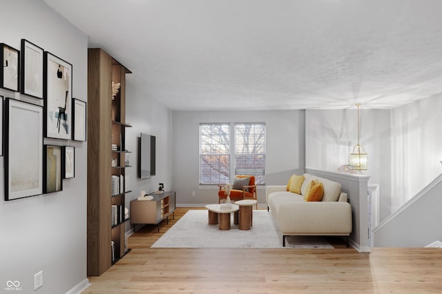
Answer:
[[(28, 39), (73, 64), (73, 97), (87, 100), (87, 37), (42, 1), (2, 1), (0, 42), (21, 49)], [(26, 99), (1, 90), (0, 95)], [(86, 142), (45, 139), (44, 144), (75, 146), (75, 178), (63, 191), (4, 201), (0, 169), (0, 290), (19, 281), (21, 293), (34, 292), (34, 274), (44, 271), (44, 286), (35, 293), (66, 293), (86, 279)], [(29, 146), (35, 148), (35, 146)], [(0, 157), (3, 166), (4, 157)], [(12, 163), (13, 164), (13, 163)]]

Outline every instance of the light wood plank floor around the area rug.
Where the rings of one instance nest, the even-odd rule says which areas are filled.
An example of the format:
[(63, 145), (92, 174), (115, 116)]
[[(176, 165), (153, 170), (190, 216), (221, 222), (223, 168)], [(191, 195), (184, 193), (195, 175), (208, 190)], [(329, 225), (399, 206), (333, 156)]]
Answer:
[(440, 248), (150, 248), (187, 210), (129, 237), (132, 251), (83, 293), (442, 293)]

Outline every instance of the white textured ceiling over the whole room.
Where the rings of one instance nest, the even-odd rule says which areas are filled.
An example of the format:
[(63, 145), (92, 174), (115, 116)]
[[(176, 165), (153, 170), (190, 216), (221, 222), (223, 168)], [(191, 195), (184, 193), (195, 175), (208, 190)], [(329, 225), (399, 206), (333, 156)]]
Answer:
[(439, 0), (44, 0), (172, 110), (394, 108), (442, 92)]

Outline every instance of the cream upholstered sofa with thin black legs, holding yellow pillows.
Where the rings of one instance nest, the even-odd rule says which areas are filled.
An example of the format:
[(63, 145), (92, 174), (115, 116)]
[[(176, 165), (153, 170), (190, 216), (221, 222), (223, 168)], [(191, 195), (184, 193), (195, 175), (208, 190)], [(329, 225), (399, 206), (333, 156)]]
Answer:
[(348, 236), (352, 233), (352, 208), (347, 194), (341, 193), (340, 183), (305, 174), (301, 192), (314, 179), (323, 183), (324, 195), (320, 202), (306, 202), (302, 193), (287, 191), (286, 186), (267, 186), (267, 210), (276, 220), (282, 233), (282, 246), (289, 235)]

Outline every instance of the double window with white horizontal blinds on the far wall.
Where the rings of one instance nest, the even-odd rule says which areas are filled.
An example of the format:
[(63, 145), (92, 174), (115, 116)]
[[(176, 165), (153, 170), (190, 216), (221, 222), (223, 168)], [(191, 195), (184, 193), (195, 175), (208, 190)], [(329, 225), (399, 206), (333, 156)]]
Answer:
[(200, 184), (233, 182), (231, 174), (265, 184), (264, 123), (200, 124)]

